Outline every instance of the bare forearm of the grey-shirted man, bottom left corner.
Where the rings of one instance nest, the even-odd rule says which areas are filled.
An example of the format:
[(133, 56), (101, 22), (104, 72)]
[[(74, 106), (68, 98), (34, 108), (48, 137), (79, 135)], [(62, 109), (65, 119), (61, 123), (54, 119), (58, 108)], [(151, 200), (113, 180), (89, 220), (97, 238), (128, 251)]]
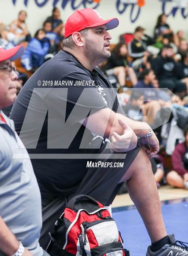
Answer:
[(14, 255), (20, 243), (0, 217), (0, 251), (7, 256)]

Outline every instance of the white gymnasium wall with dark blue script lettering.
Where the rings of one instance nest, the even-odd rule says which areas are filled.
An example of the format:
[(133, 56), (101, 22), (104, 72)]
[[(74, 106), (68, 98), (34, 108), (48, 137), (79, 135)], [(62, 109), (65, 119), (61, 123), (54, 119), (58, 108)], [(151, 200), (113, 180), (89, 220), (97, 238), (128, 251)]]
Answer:
[(188, 38), (188, 0), (145, 0), (142, 7), (138, 6), (137, 0), (0, 0), (0, 20), (9, 24), (24, 9), (28, 13), (29, 31), (34, 35), (51, 15), (54, 6), (60, 9), (64, 22), (75, 9), (82, 8), (95, 8), (104, 19), (119, 18), (119, 27), (111, 31), (112, 43), (117, 43), (120, 34), (133, 32), (137, 26), (144, 27), (148, 35), (153, 35), (161, 13), (167, 14), (167, 23), (175, 32), (181, 29)]

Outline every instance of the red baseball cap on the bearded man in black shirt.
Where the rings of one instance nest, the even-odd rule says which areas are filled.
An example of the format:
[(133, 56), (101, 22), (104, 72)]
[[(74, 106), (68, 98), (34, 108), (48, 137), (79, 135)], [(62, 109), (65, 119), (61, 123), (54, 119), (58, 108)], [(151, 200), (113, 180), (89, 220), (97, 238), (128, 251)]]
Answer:
[(101, 25), (106, 25), (107, 30), (110, 30), (119, 25), (119, 20), (117, 18), (103, 20), (100, 14), (92, 8), (77, 10), (68, 17), (64, 24), (64, 38), (87, 27), (98, 27)]

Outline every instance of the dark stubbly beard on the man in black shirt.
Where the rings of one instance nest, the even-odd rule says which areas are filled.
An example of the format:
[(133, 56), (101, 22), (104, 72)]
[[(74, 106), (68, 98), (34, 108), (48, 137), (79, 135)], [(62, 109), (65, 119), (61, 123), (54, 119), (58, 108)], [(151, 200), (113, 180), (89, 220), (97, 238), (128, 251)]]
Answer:
[(98, 65), (99, 63), (103, 62), (107, 58), (110, 58), (111, 52), (105, 51), (104, 48), (101, 51), (98, 51), (94, 47), (94, 43), (90, 39), (86, 39), (86, 45), (85, 45), (85, 57), (90, 60), (91, 63), (95, 63)]

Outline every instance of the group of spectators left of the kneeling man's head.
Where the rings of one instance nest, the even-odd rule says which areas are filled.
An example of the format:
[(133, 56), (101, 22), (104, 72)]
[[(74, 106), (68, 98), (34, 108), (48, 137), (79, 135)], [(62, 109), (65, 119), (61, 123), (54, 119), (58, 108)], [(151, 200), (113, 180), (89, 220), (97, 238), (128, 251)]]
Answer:
[(64, 25), (60, 18), (60, 10), (54, 7), (52, 15), (47, 17), (43, 26), (38, 28), (34, 37), (31, 37), (26, 18), (26, 11), (21, 10), (17, 20), (10, 25), (0, 24), (0, 45), (4, 49), (9, 49), (24, 42), (26, 50), (21, 58), (21, 65), (27, 71), (34, 72), (61, 49)]

